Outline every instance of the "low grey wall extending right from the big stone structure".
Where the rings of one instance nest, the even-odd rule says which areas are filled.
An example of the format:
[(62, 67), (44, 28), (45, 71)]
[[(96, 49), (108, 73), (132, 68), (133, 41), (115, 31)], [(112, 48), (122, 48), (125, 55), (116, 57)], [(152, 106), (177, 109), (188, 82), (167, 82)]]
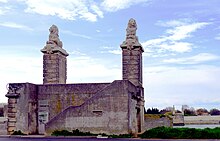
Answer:
[(162, 118), (145, 117), (144, 126), (145, 126), (145, 130), (149, 130), (149, 129), (161, 127), (161, 126), (172, 127), (173, 121), (171, 118), (168, 118), (168, 117), (162, 117)]

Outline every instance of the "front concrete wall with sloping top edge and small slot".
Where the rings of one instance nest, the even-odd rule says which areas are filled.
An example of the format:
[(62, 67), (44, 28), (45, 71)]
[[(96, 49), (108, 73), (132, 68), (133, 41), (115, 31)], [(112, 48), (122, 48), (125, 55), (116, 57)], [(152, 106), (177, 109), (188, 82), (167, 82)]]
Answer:
[[(136, 93), (136, 87), (130, 84), (129, 81), (114, 81), (84, 104), (68, 107), (46, 124), (47, 134), (62, 129), (107, 134), (135, 131), (135, 106), (130, 107), (130, 119), (128, 107), (129, 94)], [(130, 103), (134, 105), (135, 102)]]

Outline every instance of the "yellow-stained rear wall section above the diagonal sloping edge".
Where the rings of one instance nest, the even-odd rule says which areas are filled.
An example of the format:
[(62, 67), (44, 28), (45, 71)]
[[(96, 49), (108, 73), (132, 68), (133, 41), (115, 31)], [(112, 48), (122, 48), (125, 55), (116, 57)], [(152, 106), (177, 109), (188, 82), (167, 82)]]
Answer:
[(86, 84), (54, 84), (39, 85), (38, 100), (48, 101), (48, 119), (62, 112), (69, 106), (82, 105), (95, 93), (107, 87), (110, 83), (86, 83)]

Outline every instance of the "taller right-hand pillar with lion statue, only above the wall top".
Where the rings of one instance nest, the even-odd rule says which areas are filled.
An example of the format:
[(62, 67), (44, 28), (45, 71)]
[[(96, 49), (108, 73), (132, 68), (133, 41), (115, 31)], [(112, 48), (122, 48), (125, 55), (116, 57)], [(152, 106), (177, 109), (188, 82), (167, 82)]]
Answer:
[(122, 76), (123, 80), (130, 80), (135, 86), (142, 87), (142, 53), (144, 49), (138, 41), (136, 30), (135, 20), (130, 19), (126, 29), (126, 40), (121, 44)]

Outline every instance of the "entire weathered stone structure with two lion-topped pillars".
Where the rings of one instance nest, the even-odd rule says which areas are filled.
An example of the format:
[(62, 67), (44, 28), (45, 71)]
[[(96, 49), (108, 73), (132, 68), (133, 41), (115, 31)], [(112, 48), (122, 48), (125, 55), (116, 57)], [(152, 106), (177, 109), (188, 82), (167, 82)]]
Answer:
[(58, 28), (49, 29), (43, 53), (43, 84), (10, 83), (8, 134), (51, 134), (54, 130), (128, 134), (144, 129), (143, 48), (130, 19), (122, 49), (123, 80), (112, 83), (66, 84), (68, 53)]

